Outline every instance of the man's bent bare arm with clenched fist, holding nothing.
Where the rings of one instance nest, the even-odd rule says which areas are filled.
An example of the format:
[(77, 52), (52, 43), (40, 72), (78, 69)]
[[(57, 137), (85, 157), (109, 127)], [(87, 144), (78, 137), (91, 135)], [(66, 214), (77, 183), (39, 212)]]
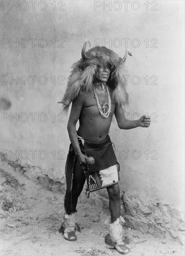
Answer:
[(150, 126), (150, 116), (142, 115), (139, 120), (128, 120), (125, 117), (124, 110), (121, 105), (116, 104), (116, 108), (114, 111), (114, 115), (116, 117), (116, 120), (118, 122), (118, 127), (120, 129), (133, 129), (136, 127), (143, 127), (148, 128)]

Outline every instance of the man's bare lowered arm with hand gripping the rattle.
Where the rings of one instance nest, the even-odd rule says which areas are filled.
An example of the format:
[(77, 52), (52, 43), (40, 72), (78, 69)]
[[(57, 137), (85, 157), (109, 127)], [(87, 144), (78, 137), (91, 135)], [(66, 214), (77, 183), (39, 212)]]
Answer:
[(74, 99), (72, 102), (71, 113), (70, 113), (69, 121), (67, 124), (67, 130), (68, 130), (70, 141), (73, 145), (74, 152), (80, 164), (86, 165), (87, 157), (81, 152), (81, 149), (79, 147), (77, 131), (76, 131), (76, 123), (79, 120), (79, 115), (81, 113), (83, 104), (84, 104), (83, 96), (82, 94), (79, 94), (79, 96), (76, 99)]

